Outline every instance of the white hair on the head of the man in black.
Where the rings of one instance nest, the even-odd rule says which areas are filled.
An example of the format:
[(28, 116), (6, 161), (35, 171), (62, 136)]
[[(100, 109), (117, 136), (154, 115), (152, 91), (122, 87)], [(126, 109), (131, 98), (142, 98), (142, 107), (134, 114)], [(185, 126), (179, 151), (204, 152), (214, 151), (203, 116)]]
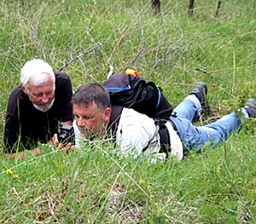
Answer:
[(32, 83), (35, 86), (45, 83), (47, 81), (47, 76), (45, 76), (46, 74), (50, 75), (55, 86), (55, 74), (51, 66), (41, 59), (29, 60), (21, 68), (20, 81), (28, 92), (29, 83)]

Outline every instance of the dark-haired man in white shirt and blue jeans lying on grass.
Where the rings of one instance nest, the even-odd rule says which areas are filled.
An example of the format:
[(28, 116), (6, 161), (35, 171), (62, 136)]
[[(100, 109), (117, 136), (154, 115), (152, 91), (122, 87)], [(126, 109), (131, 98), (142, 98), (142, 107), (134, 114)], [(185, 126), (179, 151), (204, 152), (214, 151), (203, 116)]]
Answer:
[[(114, 140), (121, 153), (133, 158), (144, 153), (163, 160), (171, 154), (181, 160), (192, 149), (200, 152), (207, 142), (212, 148), (217, 146), (241, 126), (236, 112), (202, 127), (192, 124), (202, 112), (209, 111), (207, 85), (203, 82), (195, 84), (192, 92), (174, 109), (175, 116), (165, 123), (168, 142), (161, 139), (153, 118), (131, 108), (112, 106), (107, 89), (99, 83), (80, 86), (72, 104), (77, 146), (84, 137)], [(256, 101), (249, 99), (241, 112), (245, 118), (256, 117)]]

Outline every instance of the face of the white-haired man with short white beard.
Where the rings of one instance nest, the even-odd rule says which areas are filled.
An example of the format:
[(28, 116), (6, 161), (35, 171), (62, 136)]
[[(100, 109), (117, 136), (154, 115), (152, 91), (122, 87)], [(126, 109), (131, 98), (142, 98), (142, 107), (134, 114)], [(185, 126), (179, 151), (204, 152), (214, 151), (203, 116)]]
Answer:
[(46, 82), (39, 84), (38, 86), (33, 85), (29, 82), (28, 92), (24, 92), (29, 96), (33, 106), (35, 106), (41, 112), (47, 112), (55, 101), (55, 85), (50, 77), (46, 75)]

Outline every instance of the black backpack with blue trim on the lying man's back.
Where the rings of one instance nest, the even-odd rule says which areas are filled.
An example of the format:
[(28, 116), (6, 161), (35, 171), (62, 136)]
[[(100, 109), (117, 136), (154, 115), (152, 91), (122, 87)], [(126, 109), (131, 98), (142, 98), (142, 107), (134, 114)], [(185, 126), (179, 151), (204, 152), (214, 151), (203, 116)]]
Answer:
[(172, 114), (172, 105), (153, 82), (120, 73), (102, 85), (108, 89), (112, 105), (132, 108), (155, 119), (168, 120)]

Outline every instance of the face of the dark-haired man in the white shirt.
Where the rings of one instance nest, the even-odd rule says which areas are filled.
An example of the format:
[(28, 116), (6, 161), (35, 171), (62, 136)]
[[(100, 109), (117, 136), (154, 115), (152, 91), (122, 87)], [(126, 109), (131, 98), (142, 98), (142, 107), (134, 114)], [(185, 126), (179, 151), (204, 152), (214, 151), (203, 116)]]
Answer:
[(104, 130), (108, 125), (110, 116), (109, 110), (110, 108), (107, 108), (101, 113), (96, 103), (92, 103), (90, 106), (73, 104), (73, 114), (81, 134), (84, 137), (89, 137), (92, 134), (100, 136), (105, 133)]

